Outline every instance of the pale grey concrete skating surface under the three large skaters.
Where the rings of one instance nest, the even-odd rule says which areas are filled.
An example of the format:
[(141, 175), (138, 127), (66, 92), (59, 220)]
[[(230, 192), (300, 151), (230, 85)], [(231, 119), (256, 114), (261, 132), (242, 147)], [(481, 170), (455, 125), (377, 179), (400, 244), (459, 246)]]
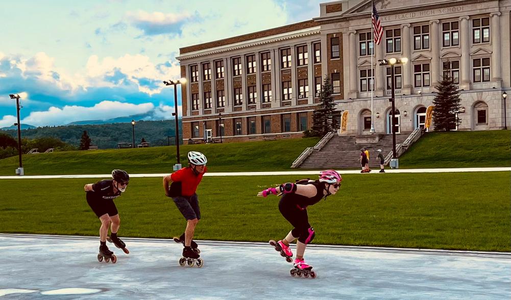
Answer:
[(197, 268), (172, 240), (123, 240), (112, 264), (98, 238), (0, 234), (0, 300), (511, 298), (511, 253), (311, 245), (306, 279), (264, 243), (197, 241)]

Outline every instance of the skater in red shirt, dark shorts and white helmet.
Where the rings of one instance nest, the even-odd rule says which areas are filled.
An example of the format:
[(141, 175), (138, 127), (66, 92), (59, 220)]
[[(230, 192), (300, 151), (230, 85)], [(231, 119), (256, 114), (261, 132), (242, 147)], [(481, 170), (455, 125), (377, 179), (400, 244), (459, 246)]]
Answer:
[[(196, 151), (188, 152), (188, 167), (182, 168), (163, 178), (165, 195), (171, 197), (177, 209), (187, 220), (187, 227), (180, 241), (183, 242), (183, 257), (198, 259), (197, 243), (192, 239), (200, 220), (199, 198), (196, 194), (202, 176), (207, 172), (207, 159)], [(169, 186), (169, 183), (172, 183)], [(170, 189), (169, 189), (170, 188)], [(194, 250), (195, 249), (195, 250)]]

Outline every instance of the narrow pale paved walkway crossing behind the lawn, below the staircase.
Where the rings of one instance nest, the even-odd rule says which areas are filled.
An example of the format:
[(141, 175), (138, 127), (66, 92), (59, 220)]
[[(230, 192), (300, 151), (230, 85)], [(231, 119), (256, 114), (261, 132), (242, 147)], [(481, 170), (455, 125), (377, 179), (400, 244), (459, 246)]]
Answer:
[[(386, 173), (444, 173), (444, 172), (502, 172), (511, 171), (511, 167), (497, 168), (445, 168), (445, 169), (385, 169)], [(360, 170), (339, 170), (341, 174), (361, 174)], [(163, 177), (170, 173), (156, 174), (130, 174), (130, 177)], [(212, 172), (204, 176), (265, 176), (265, 175), (314, 175), (318, 171), (277, 171), (277, 172)], [(375, 169), (369, 174), (379, 174)], [(362, 175), (362, 174), (361, 174)], [(366, 176), (367, 174), (363, 174)], [(380, 174), (383, 175), (383, 174)], [(26, 175), (26, 176), (0, 176), (0, 179), (44, 179), (44, 178), (102, 178), (110, 177), (111, 174), (86, 174), (86, 175)]]

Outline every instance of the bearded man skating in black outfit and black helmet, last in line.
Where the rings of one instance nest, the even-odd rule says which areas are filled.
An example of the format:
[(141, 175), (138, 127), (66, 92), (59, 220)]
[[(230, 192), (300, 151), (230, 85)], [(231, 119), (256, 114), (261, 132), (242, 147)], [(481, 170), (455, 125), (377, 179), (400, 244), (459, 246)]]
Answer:
[(83, 187), (87, 193), (87, 204), (89, 204), (92, 211), (101, 221), (101, 227), (99, 228), (99, 252), (106, 256), (113, 254), (106, 245), (109, 227), (111, 230), (109, 241), (112, 241), (118, 248), (123, 249), (124, 252), (129, 253), (126, 249), (126, 244), (117, 236), (121, 226), (121, 219), (119, 218), (117, 207), (113, 203), (113, 199), (120, 197), (122, 193), (126, 192), (128, 183), (128, 173), (116, 169), (112, 171), (112, 179), (88, 183)]

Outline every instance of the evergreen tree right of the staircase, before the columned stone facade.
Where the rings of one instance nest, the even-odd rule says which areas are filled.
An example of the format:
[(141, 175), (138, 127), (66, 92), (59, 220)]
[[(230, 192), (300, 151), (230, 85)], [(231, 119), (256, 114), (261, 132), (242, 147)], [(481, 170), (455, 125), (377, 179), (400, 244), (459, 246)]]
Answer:
[(450, 62), (444, 63), (444, 77), (435, 88), (438, 93), (433, 99), (435, 106), (433, 110), (433, 125), (435, 130), (448, 131), (456, 128), (461, 120), (456, 118), (456, 113), (460, 109), (460, 98), (458, 86), (451, 77)]

